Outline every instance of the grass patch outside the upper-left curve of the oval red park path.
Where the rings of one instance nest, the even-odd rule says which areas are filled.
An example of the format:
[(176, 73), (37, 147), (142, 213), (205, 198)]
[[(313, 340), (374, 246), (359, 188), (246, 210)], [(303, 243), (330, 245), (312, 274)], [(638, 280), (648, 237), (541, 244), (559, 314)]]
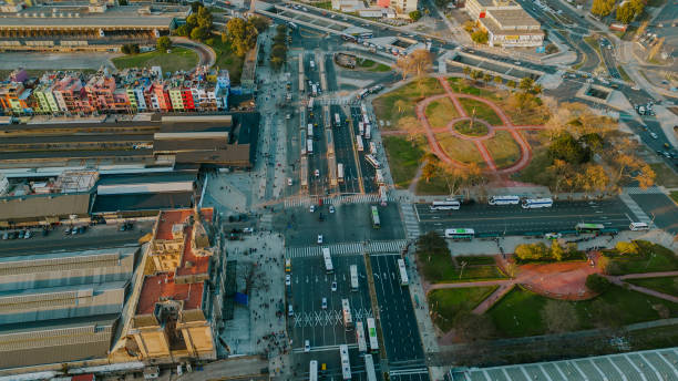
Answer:
[[(413, 81), (372, 101), (377, 119), (384, 122), (390, 121), (391, 126), (386, 128), (396, 130), (398, 126), (398, 121), (401, 117), (417, 117), (417, 114), (414, 113), (414, 105), (417, 102), (423, 99), (421, 96), (422, 91), (423, 97), (443, 93), (440, 82), (434, 78), (424, 79), (422, 81), (421, 89), (419, 87), (418, 81)], [(402, 107), (400, 110), (398, 107), (399, 104), (396, 103), (399, 100), (403, 101), (401, 102)]]

